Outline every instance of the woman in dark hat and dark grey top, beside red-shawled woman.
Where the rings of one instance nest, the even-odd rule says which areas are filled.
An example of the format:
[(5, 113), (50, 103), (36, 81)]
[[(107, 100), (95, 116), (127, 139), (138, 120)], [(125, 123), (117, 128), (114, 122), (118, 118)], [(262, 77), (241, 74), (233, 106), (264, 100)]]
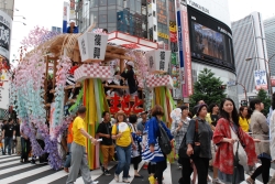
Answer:
[(186, 154), (191, 158), (198, 173), (198, 184), (207, 184), (211, 155), (212, 130), (206, 121), (207, 105), (196, 107), (196, 118), (189, 122), (186, 133)]

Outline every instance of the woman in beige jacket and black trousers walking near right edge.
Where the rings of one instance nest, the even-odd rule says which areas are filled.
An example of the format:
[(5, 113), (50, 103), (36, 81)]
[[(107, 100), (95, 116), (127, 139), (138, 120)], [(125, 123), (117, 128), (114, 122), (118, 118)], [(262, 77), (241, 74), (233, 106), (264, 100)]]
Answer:
[(270, 128), (266, 122), (265, 116), (261, 112), (264, 109), (264, 105), (260, 99), (253, 99), (250, 101), (250, 108), (253, 110), (251, 116), (251, 131), (252, 137), (262, 140), (255, 143), (257, 158), (261, 160), (262, 165), (258, 166), (254, 173), (246, 178), (250, 184), (255, 183), (255, 178), (262, 174), (263, 183), (267, 184), (270, 181), (270, 169), (271, 169), (271, 150), (270, 150)]

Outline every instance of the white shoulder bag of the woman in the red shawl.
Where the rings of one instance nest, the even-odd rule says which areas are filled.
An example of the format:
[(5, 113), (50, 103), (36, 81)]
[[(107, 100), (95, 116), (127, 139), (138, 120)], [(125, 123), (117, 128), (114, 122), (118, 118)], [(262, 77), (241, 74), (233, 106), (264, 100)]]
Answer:
[(230, 126), (230, 130), (231, 130), (231, 139), (237, 140), (233, 144), (233, 153), (238, 154), (239, 164), (246, 166), (248, 160), (249, 160), (248, 154), (245, 150), (243, 149), (243, 145), (241, 144), (239, 137), (237, 136), (237, 133), (234, 132), (231, 126)]

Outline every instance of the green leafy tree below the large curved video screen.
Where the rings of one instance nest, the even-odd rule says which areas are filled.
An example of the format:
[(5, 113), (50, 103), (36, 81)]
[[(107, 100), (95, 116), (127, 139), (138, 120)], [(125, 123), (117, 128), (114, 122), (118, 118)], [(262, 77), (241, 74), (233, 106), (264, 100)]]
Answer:
[(227, 97), (224, 90), (226, 85), (222, 85), (221, 79), (215, 77), (211, 69), (204, 68), (198, 76), (198, 80), (194, 84), (194, 94), (189, 98), (190, 107), (194, 108), (199, 100), (204, 100), (207, 105), (219, 104), (221, 99)]

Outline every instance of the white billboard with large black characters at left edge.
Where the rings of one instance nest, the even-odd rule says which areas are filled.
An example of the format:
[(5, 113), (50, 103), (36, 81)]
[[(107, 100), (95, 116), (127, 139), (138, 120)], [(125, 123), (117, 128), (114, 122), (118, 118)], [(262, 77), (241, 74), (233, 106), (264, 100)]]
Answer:
[(10, 61), (11, 18), (0, 10), (0, 55)]

